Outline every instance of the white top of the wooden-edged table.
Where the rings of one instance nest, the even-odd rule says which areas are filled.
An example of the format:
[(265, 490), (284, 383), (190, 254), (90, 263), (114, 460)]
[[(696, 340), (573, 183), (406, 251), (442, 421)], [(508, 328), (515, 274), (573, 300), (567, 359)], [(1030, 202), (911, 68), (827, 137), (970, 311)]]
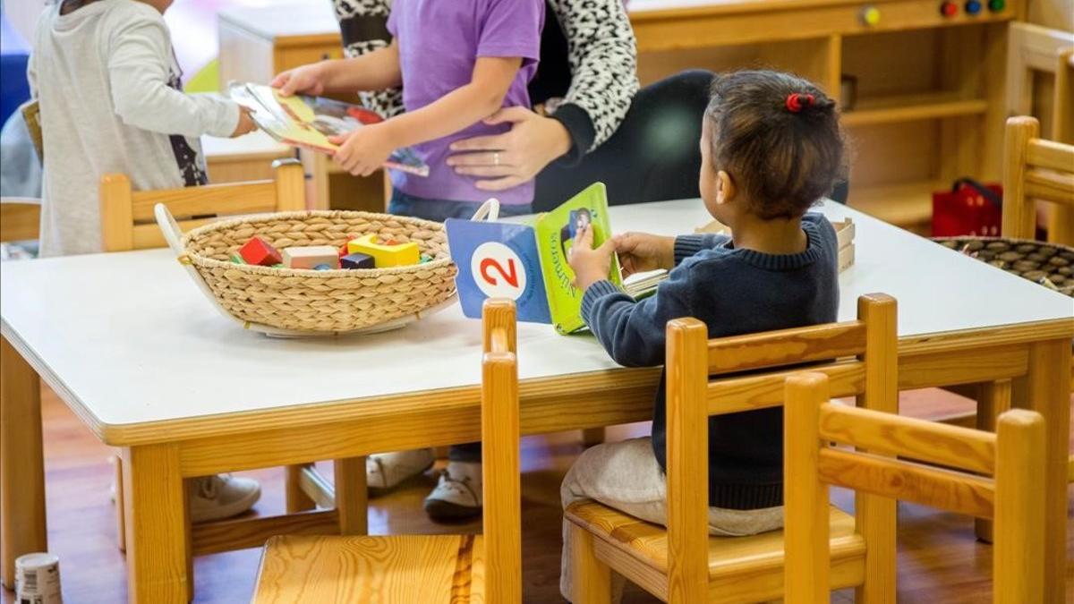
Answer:
[[(840, 319), (855, 299), (899, 301), (900, 336), (1074, 316), (1074, 301), (859, 212), (855, 265), (841, 275)], [(616, 230), (692, 232), (697, 200), (612, 208)], [(164, 249), (5, 262), (3, 333), (99, 426), (473, 386), (481, 326), (458, 305), (394, 332), (274, 340), (243, 331), (204, 299)], [(520, 323), (522, 379), (614, 368), (590, 335)]]

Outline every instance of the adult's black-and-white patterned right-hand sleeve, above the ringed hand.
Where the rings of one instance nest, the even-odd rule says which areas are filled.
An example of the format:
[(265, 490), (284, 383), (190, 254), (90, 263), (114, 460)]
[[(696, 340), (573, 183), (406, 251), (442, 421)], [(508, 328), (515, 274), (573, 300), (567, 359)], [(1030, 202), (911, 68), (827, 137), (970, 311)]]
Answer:
[[(619, 128), (638, 91), (638, 54), (623, 0), (550, 0), (567, 38), (570, 88), (556, 111), (576, 105), (600, 146)], [(579, 141), (576, 141), (576, 143)]]

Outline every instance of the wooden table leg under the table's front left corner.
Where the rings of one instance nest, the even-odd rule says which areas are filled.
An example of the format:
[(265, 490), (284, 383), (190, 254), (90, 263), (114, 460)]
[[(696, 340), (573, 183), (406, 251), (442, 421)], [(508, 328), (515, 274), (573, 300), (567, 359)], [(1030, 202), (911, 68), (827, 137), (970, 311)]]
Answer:
[(176, 445), (125, 448), (127, 594), (135, 604), (190, 600), (186, 488)]

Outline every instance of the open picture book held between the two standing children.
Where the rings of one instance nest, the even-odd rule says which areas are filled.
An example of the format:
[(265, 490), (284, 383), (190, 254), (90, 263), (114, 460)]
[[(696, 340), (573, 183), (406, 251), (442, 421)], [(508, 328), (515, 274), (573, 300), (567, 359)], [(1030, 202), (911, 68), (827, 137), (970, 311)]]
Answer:
[[(359, 105), (323, 97), (284, 97), (275, 88), (260, 84), (232, 82), (228, 96), (249, 109), (253, 121), (273, 139), (328, 155), (339, 148), (329, 136), (383, 121), (378, 113)], [(410, 148), (395, 149), (384, 168), (429, 176), (429, 166)]]

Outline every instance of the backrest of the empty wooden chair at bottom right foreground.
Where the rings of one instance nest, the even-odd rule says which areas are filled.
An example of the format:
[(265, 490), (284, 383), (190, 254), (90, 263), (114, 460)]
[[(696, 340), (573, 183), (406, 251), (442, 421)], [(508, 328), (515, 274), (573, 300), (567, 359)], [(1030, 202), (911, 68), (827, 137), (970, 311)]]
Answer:
[[(995, 518), (992, 601), (1044, 601), (1045, 463), (1040, 414), (1008, 411), (999, 417), (992, 434), (841, 407), (828, 402), (828, 377), (818, 373), (787, 378), (785, 397), (785, 602), (829, 601), (828, 485)], [(892, 457), (833, 448), (832, 443)], [(860, 527), (859, 532), (863, 532)], [(867, 537), (866, 548), (872, 547)], [(866, 573), (871, 572), (877, 570), (867, 565)]]

